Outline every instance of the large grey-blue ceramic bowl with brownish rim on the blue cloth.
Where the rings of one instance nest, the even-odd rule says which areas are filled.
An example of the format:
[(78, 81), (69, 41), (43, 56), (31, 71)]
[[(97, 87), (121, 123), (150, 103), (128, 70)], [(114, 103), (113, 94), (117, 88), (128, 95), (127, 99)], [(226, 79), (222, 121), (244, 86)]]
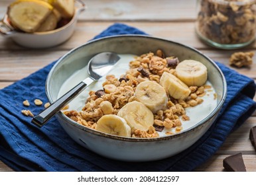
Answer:
[[(226, 96), (225, 78), (219, 67), (206, 55), (197, 50), (161, 38), (139, 35), (109, 36), (88, 42), (61, 57), (52, 67), (46, 80), (46, 94), (50, 102), (58, 98), (63, 83), (99, 52), (141, 55), (161, 49), (166, 55), (176, 55), (183, 59), (196, 59), (208, 68), (208, 81), (216, 90), (217, 106), (208, 116), (194, 126), (174, 135), (158, 138), (133, 138), (109, 135), (86, 128), (70, 120), (62, 112), (56, 114), (58, 122), (66, 133), (80, 145), (111, 159), (121, 161), (154, 161), (180, 153), (195, 143), (212, 126), (218, 116)], [(76, 79), (74, 85), (83, 79)], [(71, 87), (70, 87), (71, 88)], [(84, 100), (86, 101), (86, 100)]]

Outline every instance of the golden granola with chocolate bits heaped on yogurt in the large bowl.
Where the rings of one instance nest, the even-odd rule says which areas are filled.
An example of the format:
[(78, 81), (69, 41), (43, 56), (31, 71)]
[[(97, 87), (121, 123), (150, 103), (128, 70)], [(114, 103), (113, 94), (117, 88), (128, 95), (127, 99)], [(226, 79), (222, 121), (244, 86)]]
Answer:
[[(129, 63), (129, 70), (124, 75), (117, 78), (114, 75), (107, 75), (106, 81), (102, 84), (103, 89), (90, 91), (85, 106), (80, 112), (76, 110), (66, 111), (64, 114), (72, 120), (94, 129), (97, 120), (105, 114), (117, 114), (119, 110), (128, 102), (137, 100), (135, 89), (143, 81), (156, 81), (159, 83), (160, 77), (164, 71), (175, 75), (175, 67), (178, 65), (178, 58), (174, 56), (165, 57), (161, 50), (156, 54), (149, 52), (135, 57)], [(176, 100), (169, 96), (167, 107), (164, 110), (158, 110), (154, 114), (154, 127), (148, 131), (135, 129), (131, 133), (132, 137), (159, 137), (156, 129), (176, 128), (176, 132), (182, 130), (180, 118), (184, 121), (190, 120), (186, 116), (185, 108), (197, 106), (203, 102), (201, 98), (206, 94), (205, 89), (209, 86), (190, 87), (190, 96), (185, 100)], [(172, 134), (170, 131), (166, 134)]]

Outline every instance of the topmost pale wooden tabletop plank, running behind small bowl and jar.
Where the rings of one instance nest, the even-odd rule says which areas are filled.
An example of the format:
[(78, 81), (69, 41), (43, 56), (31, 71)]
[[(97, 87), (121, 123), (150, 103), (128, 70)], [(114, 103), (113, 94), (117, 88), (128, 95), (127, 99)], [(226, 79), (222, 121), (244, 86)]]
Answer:
[[(14, 0), (0, 1), (0, 17)], [(86, 21), (180, 21), (196, 18), (196, 0), (83, 0), (87, 9), (80, 15)], [(78, 7), (78, 6), (77, 6)]]

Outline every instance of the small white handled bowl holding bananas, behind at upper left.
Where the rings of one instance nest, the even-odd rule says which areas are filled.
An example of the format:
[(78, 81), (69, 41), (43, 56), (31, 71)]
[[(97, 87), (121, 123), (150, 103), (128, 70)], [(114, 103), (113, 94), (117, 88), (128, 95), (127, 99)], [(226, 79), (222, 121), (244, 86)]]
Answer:
[(76, 28), (78, 15), (86, 9), (82, 0), (76, 0), (76, 11), (68, 24), (48, 32), (26, 33), (15, 30), (8, 22), (8, 16), (5, 15), (0, 21), (0, 33), (13, 39), (14, 42), (27, 48), (50, 48), (62, 44), (70, 38)]

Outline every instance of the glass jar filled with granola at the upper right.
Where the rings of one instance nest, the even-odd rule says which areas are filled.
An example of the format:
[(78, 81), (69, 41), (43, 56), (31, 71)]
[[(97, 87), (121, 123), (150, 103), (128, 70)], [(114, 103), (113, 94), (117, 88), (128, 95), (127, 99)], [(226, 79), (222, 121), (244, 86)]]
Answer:
[(235, 49), (255, 40), (256, 0), (198, 0), (196, 33), (216, 48)]

